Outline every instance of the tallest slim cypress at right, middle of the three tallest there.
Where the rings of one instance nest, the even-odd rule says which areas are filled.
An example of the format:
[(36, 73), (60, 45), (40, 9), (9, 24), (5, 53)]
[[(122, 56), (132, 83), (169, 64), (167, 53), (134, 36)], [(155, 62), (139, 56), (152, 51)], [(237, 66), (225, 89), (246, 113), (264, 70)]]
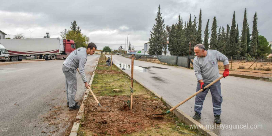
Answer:
[(244, 9), (243, 29), (242, 29), (242, 34), (241, 34), (241, 47), (242, 47), (241, 55), (242, 56), (245, 56), (245, 54), (247, 53), (247, 49), (248, 49), (247, 27), (248, 27), (248, 23), (247, 23), (246, 8), (245, 8)]

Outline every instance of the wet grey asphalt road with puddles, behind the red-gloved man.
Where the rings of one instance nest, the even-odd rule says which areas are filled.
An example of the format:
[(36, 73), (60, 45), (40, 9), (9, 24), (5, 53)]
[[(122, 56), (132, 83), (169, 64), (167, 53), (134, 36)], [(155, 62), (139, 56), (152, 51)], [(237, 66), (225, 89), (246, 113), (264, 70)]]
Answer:
[[(126, 70), (123, 71), (131, 74), (129, 69), (131, 68), (131, 59), (114, 55), (113, 63), (118, 67), (124, 67)], [(134, 60), (134, 79), (158, 93), (172, 105), (176, 105), (192, 95), (196, 91), (197, 85), (193, 70), (138, 60)], [(204, 101), (199, 122), (204, 126), (215, 125), (216, 128), (208, 129), (220, 136), (271, 135), (272, 83), (232, 76), (223, 78), (220, 82), (223, 96), (221, 126), (215, 125), (213, 122), (210, 92)], [(192, 117), (194, 115), (194, 101), (195, 97), (178, 108)], [(250, 129), (251, 127), (253, 129)], [(259, 129), (254, 129), (254, 127), (259, 127)]]

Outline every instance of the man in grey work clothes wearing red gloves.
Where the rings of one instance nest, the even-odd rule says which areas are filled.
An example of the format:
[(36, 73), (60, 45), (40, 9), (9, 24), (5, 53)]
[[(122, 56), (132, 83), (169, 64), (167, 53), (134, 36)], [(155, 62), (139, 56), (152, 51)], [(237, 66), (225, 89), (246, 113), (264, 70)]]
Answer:
[[(197, 44), (194, 47), (194, 52), (196, 57), (193, 59), (193, 70), (198, 79), (197, 90), (204, 89), (206, 85), (215, 81), (219, 78), (219, 70), (217, 61), (223, 62), (225, 71), (223, 72), (223, 77), (229, 75), (229, 62), (225, 55), (217, 50), (205, 50), (205, 46), (202, 44)], [(193, 119), (201, 119), (201, 110), (203, 107), (203, 102), (210, 89), (213, 103), (213, 111), (215, 117), (215, 123), (221, 123), (221, 104), (223, 102), (223, 97), (221, 95), (221, 83), (220, 81), (214, 83), (209, 88), (196, 95), (194, 111), (195, 114)]]

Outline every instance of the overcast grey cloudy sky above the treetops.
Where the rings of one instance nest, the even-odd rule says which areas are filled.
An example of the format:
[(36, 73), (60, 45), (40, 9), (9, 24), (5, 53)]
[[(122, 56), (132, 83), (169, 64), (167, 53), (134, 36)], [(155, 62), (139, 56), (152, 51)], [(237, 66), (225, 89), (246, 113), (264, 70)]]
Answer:
[[(252, 21), (257, 11), (259, 35), (272, 41), (272, 2), (271, 0), (0, 0), (0, 30), (6, 37), (24, 33), (26, 38), (42, 38), (46, 32), (51, 37), (60, 37), (60, 31), (70, 29), (71, 22), (76, 20), (81, 32), (96, 43), (98, 49), (109, 45), (117, 49), (125, 44), (125, 38), (135, 49), (143, 49), (148, 42), (150, 31), (155, 23), (159, 4), (165, 25), (177, 22), (181, 14), (184, 21), (189, 14), (199, 16), (202, 9), (202, 37), (207, 20), (216, 16), (218, 26), (232, 23), (233, 11), (239, 33), (242, 30), (244, 8), (247, 8), (247, 19), (250, 33)], [(219, 29), (219, 28), (218, 28)], [(211, 32), (210, 32), (211, 33)]]

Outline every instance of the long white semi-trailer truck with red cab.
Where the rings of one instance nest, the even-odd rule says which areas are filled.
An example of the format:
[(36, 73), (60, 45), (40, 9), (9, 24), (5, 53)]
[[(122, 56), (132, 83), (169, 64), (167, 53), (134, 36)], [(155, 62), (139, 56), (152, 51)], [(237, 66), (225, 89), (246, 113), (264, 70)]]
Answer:
[(61, 38), (6, 39), (0, 42), (8, 50), (12, 62), (22, 61), (30, 55), (45, 60), (66, 59), (76, 49), (74, 40)]

